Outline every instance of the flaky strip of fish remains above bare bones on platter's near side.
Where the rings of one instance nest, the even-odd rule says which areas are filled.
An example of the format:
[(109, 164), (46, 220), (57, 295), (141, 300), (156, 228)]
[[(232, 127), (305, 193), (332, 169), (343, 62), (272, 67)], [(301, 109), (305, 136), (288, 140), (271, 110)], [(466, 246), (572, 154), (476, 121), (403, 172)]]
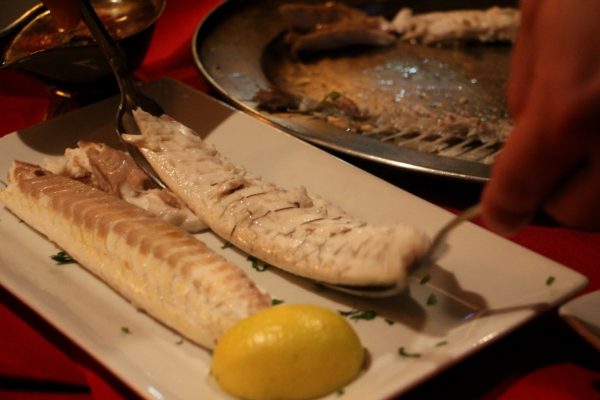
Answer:
[[(322, 72), (335, 74), (335, 71)], [(330, 78), (327, 82), (335, 82), (334, 76)], [(304, 89), (310, 87), (305, 86)], [(356, 97), (361, 100), (360, 103), (341, 92), (332, 91), (321, 100), (316, 100), (271, 85), (259, 90), (252, 100), (257, 102), (259, 110), (311, 115), (326, 120), (346, 132), (360, 133), (364, 136), (385, 135), (386, 140), (413, 134), (419, 137), (436, 138), (422, 144), (423, 151), (434, 154), (445, 150), (450, 139), (474, 138), (484, 144), (504, 142), (513, 129), (509, 120), (499, 118), (486, 120), (478, 116), (461, 115), (424, 101), (392, 102), (383, 96)], [(493, 158), (482, 160), (484, 163), (492, 161)]]

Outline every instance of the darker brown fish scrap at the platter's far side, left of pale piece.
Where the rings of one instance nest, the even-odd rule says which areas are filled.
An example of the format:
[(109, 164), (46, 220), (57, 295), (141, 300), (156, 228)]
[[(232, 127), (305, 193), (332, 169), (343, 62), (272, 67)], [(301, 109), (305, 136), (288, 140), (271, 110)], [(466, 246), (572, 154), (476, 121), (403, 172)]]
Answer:
[(386, 21), (333, 1), (324, 4), (284, 4), (279, 13), (289, 26), (286, 42), (292, 54), (348, 46), (388, 46), (396, 37)]

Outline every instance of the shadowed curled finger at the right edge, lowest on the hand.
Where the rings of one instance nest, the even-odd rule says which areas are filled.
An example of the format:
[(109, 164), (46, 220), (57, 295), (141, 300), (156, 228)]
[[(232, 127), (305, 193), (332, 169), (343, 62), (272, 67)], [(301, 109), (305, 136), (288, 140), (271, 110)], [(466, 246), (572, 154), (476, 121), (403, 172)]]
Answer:
[(581, 229), (600, 229), (600, 150), (545, 203), (557, 222)]

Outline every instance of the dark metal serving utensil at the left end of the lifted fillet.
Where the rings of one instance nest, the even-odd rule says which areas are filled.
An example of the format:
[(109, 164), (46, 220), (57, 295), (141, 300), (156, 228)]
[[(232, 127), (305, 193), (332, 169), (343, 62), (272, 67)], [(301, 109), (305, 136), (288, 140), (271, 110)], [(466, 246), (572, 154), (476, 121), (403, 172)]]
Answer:
[[(156, 117), (160, 117), (165, 114), (165, 112), (158, 103), (140, 92), (135, 84), (131, 70), (127, 65), (125, 54), (110, 37), (90, 1), (80, 0), (80, 4), (81, 17), (92, 33), (100, 50), (102, 50), (102, 53), (106, 57), (121, 92), (121, 102), (117, 112), (117, 135), (119, 135), (120, 139), (121, 136), (126, 133), (139, 135), (141, 134), (141, 131), (133, 117), (134, 110), (141, 108)], [(139, 149), (123, 140), (122, 142), (125, 144), (129, 155), (133, 158), (137, 166), (140, 167), (158, 186), (165, 188), (166, 185)]]

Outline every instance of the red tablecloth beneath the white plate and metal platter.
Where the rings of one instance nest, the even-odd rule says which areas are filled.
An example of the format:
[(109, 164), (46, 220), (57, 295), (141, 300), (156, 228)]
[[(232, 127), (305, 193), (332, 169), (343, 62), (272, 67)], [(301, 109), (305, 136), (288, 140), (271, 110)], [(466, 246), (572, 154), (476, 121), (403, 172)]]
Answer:
[[(145, 81), (179, 79), (201, 90), (190, 39), (220, 1), (168, 1), (148, 56), (137, 71)], [(0, 136), (44, 120), (49, 96), (19, 74), (0, 75)], [(371, 172), (441, 206), (474, 201), (479, 187), (426, 181), (401, 172)], [(515, 242), (590, 278), (600, 289), (600, 234), (534, 225)], [(0, 286), (0, 399), (130, 399), (125, 385)], [(551, 310), (406, 395), (407, 398), (600, 398), (599, 353)]]

